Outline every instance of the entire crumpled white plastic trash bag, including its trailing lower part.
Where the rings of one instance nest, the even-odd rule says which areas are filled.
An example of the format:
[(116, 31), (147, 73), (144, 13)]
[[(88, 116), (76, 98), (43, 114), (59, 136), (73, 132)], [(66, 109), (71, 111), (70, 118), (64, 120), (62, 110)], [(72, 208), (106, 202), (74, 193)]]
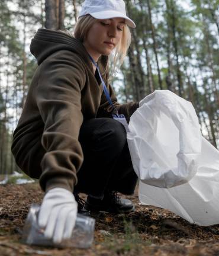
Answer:
[(140, 202), (198, 225), (218, 224), (219, 152), (201, 136), (191, 103), (170, 91), (154, 91), (128, 127)]

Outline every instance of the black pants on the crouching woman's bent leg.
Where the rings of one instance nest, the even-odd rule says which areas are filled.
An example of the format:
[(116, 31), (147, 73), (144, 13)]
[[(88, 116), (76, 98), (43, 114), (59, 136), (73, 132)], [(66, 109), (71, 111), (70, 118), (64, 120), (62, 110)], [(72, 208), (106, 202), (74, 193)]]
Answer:
[(110, 118), (84, 121), (79, 141), (84, 161), (76, 192), (102, 197), (105, 190), (133, 194), (137, 175), (131, 163), (123, 124)]

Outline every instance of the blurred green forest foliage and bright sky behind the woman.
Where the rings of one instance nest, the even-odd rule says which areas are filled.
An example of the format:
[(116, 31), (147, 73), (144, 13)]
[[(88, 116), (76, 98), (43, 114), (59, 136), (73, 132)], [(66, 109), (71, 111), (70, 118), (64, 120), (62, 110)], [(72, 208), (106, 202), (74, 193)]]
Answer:
[[(149, 75), (152, 79), (152, 89), (159, 89), (156, 53), (163, 89), (171, 89), (178, 93), (179, 82), (181, 82), (182, 97), (192, 101), (199, 116), (199, 122), (202, 124), (202, 133), (211, 140), (214, 146), (218, 146), (219, 0), (125, 1), (129, 4), (130, 14), (128, 15), (137, 25), (135, 31), (137, 43), (133, 40), (131, 45), (133, 63), (127, 56), (121, 67), (120, 75), (112, 81), (119, 101), (124, 103), (136, 100), (137, 89), (141, 87), (141, 84), (136, 84), (139, 81), (144, 82), (143, 94), (147, 95), (150, 92)], [(77, 7), (82, 2), (82, 0), (76, 1)], [(44, 1), (42, 3), (44, 5)], [(190, 4), (185, 7), (188, 3)], [(66, 28), (72, 31), (75, 24), (72, 1), (66, 0), (65, 4)], [(36, 11), (37, 8), (38, 11)], [(8, 172), (16, 168), (14, 163), (11, 164), (11, 159), (13, 159), (9, 145), (11, 132), (22, 110), (22, 97), (27, 93), (33, 73), (37, 68), (36, 60), (28, 52), (28, 44), (37, 28), (43, 27), (45, 13), (40, 13), (39, 10), (41, 10), (41, 0), (0, 1), (0, 57), (2, 60), (0, 66), (0, 139), (7, 143), (7, 149), (0, 145), (0, 157), (3, 152)], [(24, 23), (27, 37), (25, 45)], [(131, 31), (134, 39), (134, 30)], [(140, 60), (137, 52), (141, 56)], [(24, 55), (27, 58), (25, 66)], [(139, 62), (143, 71), (143, 79), (140, 79), (142, 73), (140, 73)], [(134, 71), (131, 68), (133, 66)], [(25, 85), (23, 85), (24, 68), (26, 68)], [(200, 116), (204, 116), (205, 120)], [(3, 135), (4, 140), (1, 137)]]

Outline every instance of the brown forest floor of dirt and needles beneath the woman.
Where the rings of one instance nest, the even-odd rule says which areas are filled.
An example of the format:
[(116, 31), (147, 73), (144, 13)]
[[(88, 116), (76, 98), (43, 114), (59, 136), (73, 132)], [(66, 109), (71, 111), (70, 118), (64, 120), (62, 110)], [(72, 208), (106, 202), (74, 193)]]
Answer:
[(153, 206), (141, 206), (137, 191), (128, 197), (136, 211), (128, 215), (97, 213), (89, 249), (30, 247), (21, 241), (31, 203), (40, 203), (38, 183), (0, 185), (0, 255), (190, 255), (219, 256), (219, 225), (200, 227)]

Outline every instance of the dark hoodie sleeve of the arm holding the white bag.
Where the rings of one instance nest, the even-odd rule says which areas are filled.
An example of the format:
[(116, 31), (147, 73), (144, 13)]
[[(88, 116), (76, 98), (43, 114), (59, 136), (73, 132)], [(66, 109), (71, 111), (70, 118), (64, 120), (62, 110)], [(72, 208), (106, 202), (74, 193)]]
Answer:
[[(139, 107), (139, 103), (130, 102), (125, 104), (119, 104), (117, 101), (117, 97), (115, 97), (114, 89), (111, 87), (111, 85), (108, 85), (107, 89), (110, 92), (112, 104), (115, 108), (117, 108), (119, 114), (124, 114), (125, 119), (129, 123), (130, 117)], [(98, 110), (98, 117), (112, 117), (112, 112), (112, 105), (108, 103), (107, 97), (105, 97), (105, 94), (103, 92), (101, 97), (101, 105)]]

